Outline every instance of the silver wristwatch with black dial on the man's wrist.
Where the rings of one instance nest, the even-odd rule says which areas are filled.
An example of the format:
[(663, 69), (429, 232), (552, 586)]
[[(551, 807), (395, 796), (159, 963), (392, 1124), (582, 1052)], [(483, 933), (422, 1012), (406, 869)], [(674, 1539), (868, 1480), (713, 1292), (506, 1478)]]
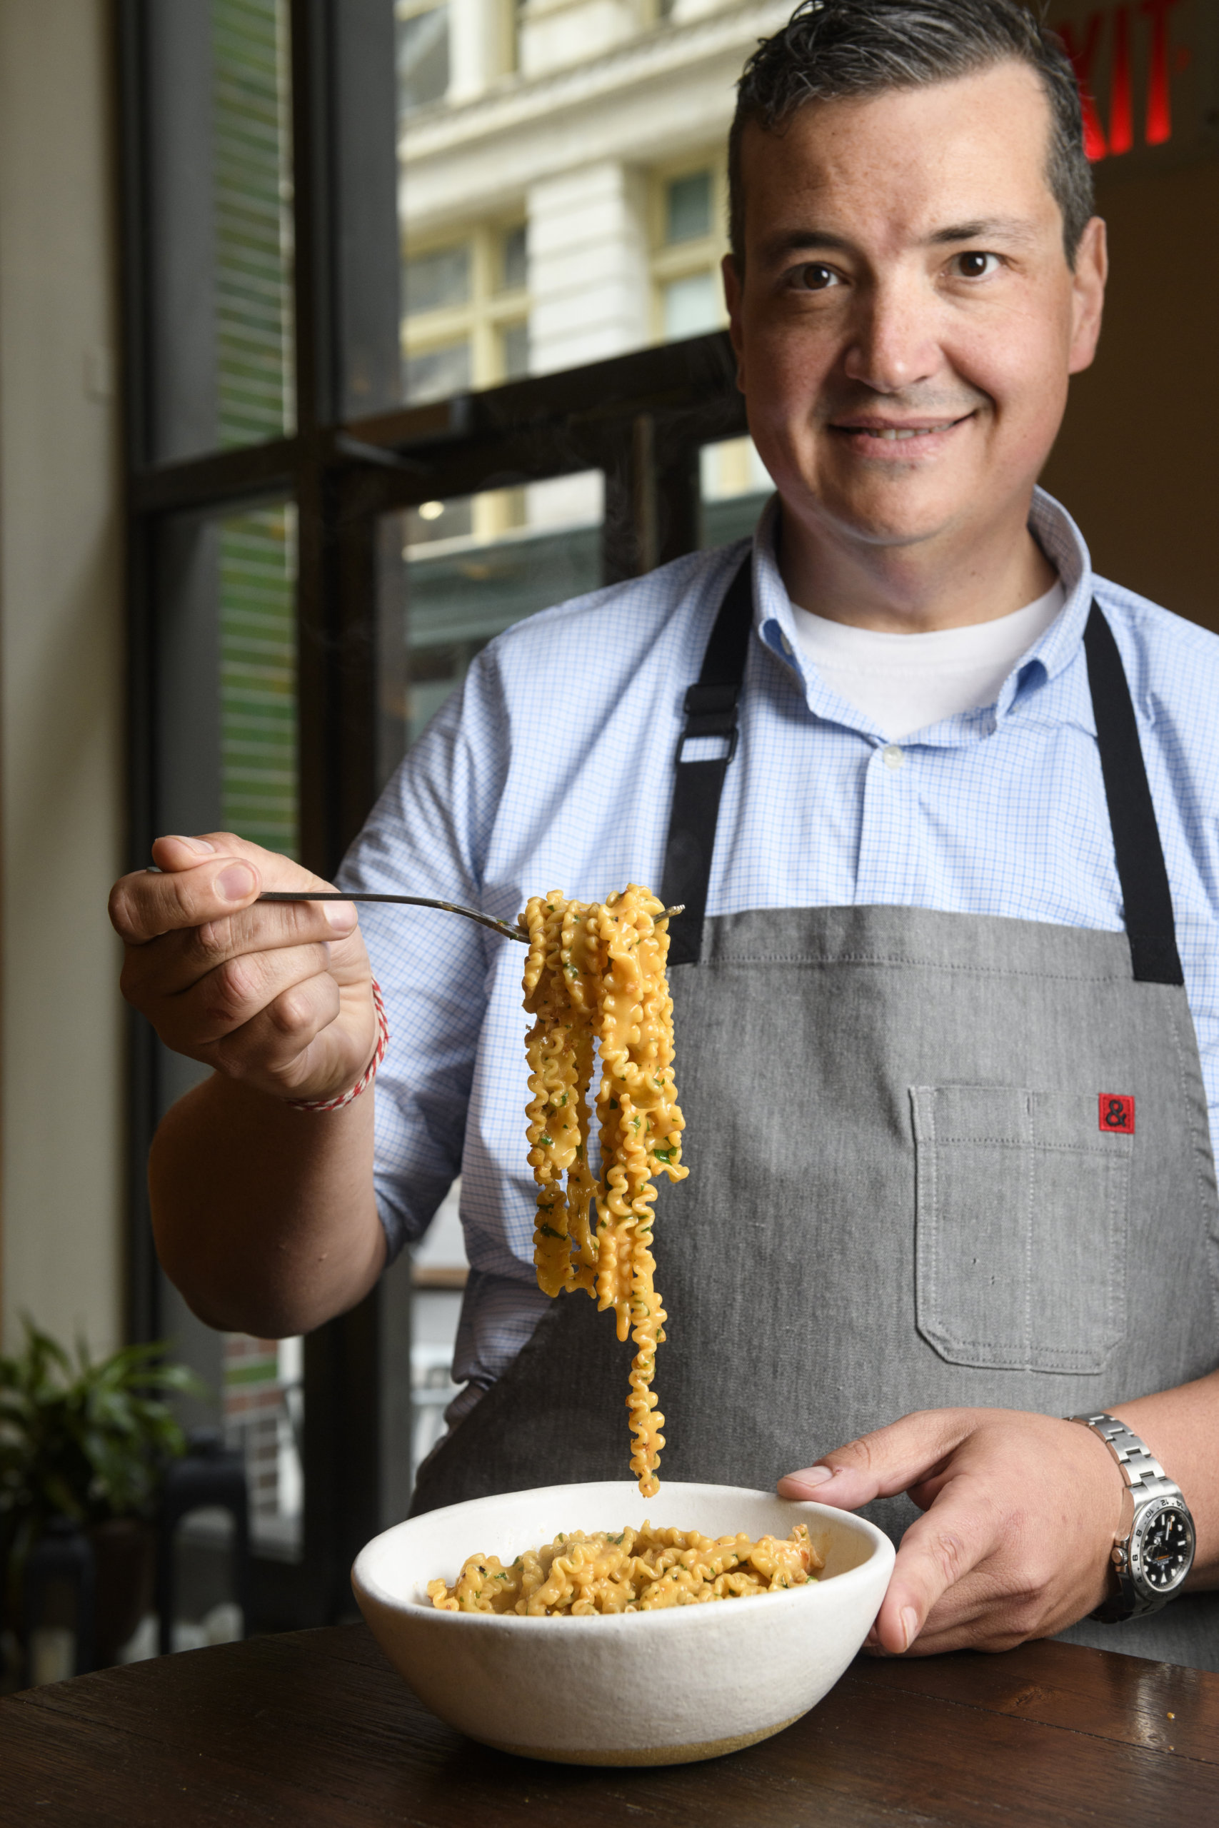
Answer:
[(1113, 1543), (1117, 1592), (1097, 1607), (1093, 1618), (1117, 1623), (1159, 1612), (1181, 1592), (1193, 1567), (1193, 1517), (1181, 1486), (1173, 1484), (1148, 1444), (1117, 1417), (1071, 1415), (1067, 1420), (1082, 1422), (1100, 1435), (1122, 1468), (1133, 1503), (1126, 1536)]

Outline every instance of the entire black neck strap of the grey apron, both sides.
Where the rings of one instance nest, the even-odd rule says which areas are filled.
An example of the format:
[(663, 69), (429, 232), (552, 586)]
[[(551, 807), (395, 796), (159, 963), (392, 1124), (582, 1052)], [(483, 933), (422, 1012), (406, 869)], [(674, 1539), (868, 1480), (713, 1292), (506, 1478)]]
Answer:
[[(685, 910), (669, 923), (671, 965), (698, 963), (702, 949), (715, 828), (724, 777), (737, 753), (737, 702), (753, 625), (751, 558), (747, 552), (724, 592), (702, 673), (685, 693), (685, 724), (678, 742), (660, 888), (665, 907), (685, 903)], [(1113, 631), (1095, 600), (1084, 631), (1084, 654), (1133, 976), (1137, 983), (1184, 983), (1164, 850), (1129, 684)], [(698, 739), (718, 742), (720, 753), (687, 760), (685, 746)]]

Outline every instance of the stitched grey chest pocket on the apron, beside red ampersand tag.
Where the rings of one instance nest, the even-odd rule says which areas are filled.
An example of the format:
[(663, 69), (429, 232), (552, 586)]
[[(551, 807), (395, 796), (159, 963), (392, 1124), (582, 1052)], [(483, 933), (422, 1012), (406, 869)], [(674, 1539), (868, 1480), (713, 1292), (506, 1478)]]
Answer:
[(1126, 1331), (1131, 1135), (1097, 1095), (912, 1086), (916, 1314), (949, 1364), (1097, 1375)]

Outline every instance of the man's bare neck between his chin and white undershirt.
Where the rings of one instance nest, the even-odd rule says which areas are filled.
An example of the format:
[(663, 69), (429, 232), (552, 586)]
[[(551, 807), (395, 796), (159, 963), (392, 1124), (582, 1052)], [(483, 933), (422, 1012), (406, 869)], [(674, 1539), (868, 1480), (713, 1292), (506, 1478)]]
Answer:
[(1055, 569), (1027, 526), (1027, 506), (989, 537), (870, 545), (810, 523), (784, 505), (777, 558), (788, 596), (828, 622), (883, 634), (928, 634), (996, 622), (1036, 601)]

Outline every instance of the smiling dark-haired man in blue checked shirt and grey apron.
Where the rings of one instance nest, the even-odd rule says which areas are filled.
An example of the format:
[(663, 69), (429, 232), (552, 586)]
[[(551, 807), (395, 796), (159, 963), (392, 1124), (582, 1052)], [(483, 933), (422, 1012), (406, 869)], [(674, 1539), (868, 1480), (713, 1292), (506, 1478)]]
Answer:
[[(1219, 1667), (1219, 647), (1093, 578), (1034, 495), (1106, 280), (1071, 69), (1014, 0), (810, 0), (751, 60), (731, 154), (733, 342), (779, 490), (751, 563), (501, 636), (344, 885), (705, 905), (671, 971), (663, 1473), (819, 1453), (780, 1492), (901, 1536), (886, 1653), (1075, 1627)], [(733, 696), (735, 755), (691, 773)], [(216, 1068), (154, 1148), (168, 1274), (214, 1325), (316, 1325), (461, 1168), (468, 1384), (417, 1504), (620, 1473), (612, 1329), (530, 1289), (519, 951), (366, 921), (393, 1047), (347, 1097), (376, 1042), (355, 910), (254, 907), (314, 879), (223, 834), (154, 857), (113, 898), (124, 989)], [(1137, 1537), (1118, 1424), (1197, 1554), (1115, 1631), (1076, 1621), (1151, 1607), (1190, 1528), (1153, 1483)]]

